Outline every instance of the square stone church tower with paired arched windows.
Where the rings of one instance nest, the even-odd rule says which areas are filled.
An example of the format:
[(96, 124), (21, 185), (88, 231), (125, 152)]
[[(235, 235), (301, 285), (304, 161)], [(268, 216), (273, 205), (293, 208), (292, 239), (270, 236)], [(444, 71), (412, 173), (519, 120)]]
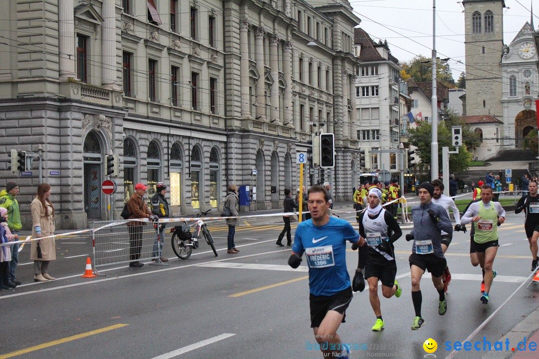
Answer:
[[(466, 114), (502, 120), (503, 0), (463, 0)], [(503, 120), (502, 120), (503, 121)]]

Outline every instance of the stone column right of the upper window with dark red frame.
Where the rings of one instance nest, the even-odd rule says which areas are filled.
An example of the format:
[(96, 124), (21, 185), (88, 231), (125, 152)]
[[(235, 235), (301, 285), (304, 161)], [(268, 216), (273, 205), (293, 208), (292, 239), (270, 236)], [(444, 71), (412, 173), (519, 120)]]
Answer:
[(102, 41), (102, 85), (113, 90), (119, 90), (116, 81), (116, 14), (115, 1), (103, 2), (103, 41)]

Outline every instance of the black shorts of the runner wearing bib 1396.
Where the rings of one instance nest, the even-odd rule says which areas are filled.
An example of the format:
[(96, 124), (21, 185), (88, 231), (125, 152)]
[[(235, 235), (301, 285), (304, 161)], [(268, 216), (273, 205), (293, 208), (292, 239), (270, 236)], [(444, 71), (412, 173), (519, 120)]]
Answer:
[(344, 323), (344, 319), (346, 318), (346, 314), (344, 312), (346, 311), (346, 308), (348, 308), (348, 305), (350, 305), (352, 297), (353, 294), (351, 286), (333, 295), (310, 294), (310, 327), (320, 327), (320, 323), (322, 320), (324, 320), (329, 311), (336, 311), (344, 314), (342, 317), (342, 322)]

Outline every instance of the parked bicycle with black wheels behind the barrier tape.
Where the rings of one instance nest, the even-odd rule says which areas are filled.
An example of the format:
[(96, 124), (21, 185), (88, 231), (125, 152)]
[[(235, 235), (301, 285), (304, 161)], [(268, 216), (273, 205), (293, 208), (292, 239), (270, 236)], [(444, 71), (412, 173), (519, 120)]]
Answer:
[[(210, 211), (211, 209), (199, 213), (195, 217), (203, 217), (210, 213)], [(213, 250), (213, 254), (217, 257), (217, 250), (215, 249), (215, 244), (213, 244), (213, 237), (208, 226), (206, 226), (206, 223), (202, 220), (197, 220), (193, 224), (187, 224), (185, 221), (183, 223), (183, 226), (175, 226), (170, 229), (170, 233), (172, 233), (171, 244), (174, 254), (176, 254), (179, 259), (188, 259), (191, 256), (193, 249), (199, 247), (200, 244), (198, 243), (198, 240), (204, 236), (206, 243), (208, 243)], [(191, 232), (191, 228), (195, 226), (197, 229), (194, 232)]]

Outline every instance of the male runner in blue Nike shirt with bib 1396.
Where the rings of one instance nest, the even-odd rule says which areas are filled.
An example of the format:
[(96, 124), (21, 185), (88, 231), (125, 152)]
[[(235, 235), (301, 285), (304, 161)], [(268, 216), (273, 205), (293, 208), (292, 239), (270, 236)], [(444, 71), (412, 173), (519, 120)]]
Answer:
[(331, 217), (329, 193), (321, 186), (307, 191), (311, 219), (298, 224), (288, 264), (298, 268), (305, 252), (309, 266), (310, 322), (324, 357), (349, 357), (337, 329), (344, 322), (352, 300), (346, 268), (346, 241), (356, 244), (360, 236), (347, 221)]

